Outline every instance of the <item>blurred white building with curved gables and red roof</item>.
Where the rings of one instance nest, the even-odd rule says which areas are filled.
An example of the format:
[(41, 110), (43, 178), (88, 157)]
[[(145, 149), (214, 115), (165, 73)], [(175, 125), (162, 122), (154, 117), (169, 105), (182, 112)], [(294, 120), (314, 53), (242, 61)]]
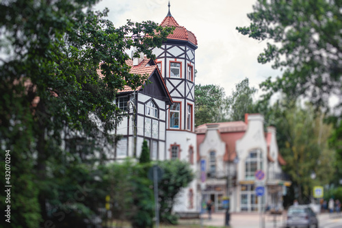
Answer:
[[(267, 127), (265, 132), (263, 121), (260, 114), (246, 114), (245, 122), (196, 128), (198, 170), (202, 163), (206, 172), (205, 181), (198, 173), (197, 201), (211, 199), (216, 212), (224, 211), (227, 196), (231, 212), (282, 210), (282, 195), (291, 182), (282, 173), (286, 162), (278, 151), (276, 129)], [(260, 181), (255, 177), (257, 170), (262, 170)], [(257, 196), (258, 186), (264, 187), (262, 197)]]

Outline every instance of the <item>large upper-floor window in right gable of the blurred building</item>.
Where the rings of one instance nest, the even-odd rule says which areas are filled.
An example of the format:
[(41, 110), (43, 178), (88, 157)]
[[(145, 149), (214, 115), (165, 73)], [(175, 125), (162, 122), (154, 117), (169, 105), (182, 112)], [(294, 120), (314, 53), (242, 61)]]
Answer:
[(248, 153), (245, 163), (245, 178), (255, 179), (255, 171), (263, 170), (263, 153), (261, 149), (254, 149)]

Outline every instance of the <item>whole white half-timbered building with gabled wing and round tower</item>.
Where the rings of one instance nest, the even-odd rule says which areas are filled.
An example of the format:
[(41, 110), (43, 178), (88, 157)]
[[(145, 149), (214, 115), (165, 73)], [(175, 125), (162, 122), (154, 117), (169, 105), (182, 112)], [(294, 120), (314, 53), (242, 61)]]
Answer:
[[(114, 159), (139, 157), (147, 140), (152, 160), (185, 160), (196, 173), (196, 134), (194, 131), (196, 36), (179, 25), (169, 12), (161, 26), (174, 27), (160, 48), (156, 60), (146, 58), (128, 62), (131, 73), (148, 74), (151, 81), (118, 93), (116, 104), (127, 117), (114, 134), (122, 139), (116, 144)], [(196, 212), (196, 181), (183, 189), (176, 200), (175, 212)]]

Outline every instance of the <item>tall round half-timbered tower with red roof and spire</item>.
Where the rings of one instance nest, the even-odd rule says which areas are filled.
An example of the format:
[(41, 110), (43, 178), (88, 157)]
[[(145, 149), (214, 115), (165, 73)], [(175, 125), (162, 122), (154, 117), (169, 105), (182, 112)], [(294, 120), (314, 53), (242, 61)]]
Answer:
[[(195, 50), (196, 36), (179, 25), (170, 12), (161, 22), (163, 27), (174, 27), (167, 41), (153, 50), (156, 62), (170, 92), (173, 103), (169, 105), (166, 118), (166, 159), (185, 160), (196, 173), (195, 134)], [(181, 194), (182, 202), (175, 205), (178, 212), (196, 211), (198, 201), (196, 181)]]

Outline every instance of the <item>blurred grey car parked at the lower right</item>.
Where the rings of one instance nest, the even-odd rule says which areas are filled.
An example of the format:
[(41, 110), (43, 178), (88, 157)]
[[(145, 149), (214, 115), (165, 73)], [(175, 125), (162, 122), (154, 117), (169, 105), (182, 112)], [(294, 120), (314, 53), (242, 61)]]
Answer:
[(309, 205), (293, 205), (287, 211), (286, 227), (315, 227), (318, 228), (318, 220), (315, 212)]

